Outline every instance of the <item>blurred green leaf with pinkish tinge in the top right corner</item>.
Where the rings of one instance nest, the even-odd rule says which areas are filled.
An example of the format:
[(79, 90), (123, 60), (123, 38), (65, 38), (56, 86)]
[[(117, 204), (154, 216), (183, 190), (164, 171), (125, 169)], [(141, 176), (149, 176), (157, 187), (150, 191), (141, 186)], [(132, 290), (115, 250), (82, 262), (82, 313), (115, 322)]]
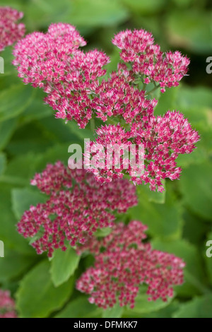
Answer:
[(212, 51), (211, 15), (208, 11), (175, 10), (168, 13), (165, 25), (169, 42), (175, 47), (200, 54)]

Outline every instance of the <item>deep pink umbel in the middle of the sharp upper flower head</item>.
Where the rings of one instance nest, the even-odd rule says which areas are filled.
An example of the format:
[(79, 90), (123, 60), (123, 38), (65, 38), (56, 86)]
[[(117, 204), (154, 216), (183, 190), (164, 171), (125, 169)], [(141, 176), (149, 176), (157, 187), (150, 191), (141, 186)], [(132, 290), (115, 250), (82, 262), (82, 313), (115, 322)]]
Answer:
[(153, 115), (157, 100), (148, 100), (145, 91), (134, 88), (131, 72), (123, 64), (118, 71), (95, 90), (92, 107), (97, 117), (106, 121), (107, 117), (120, 116), (126, 124), (134, 121), (147, 121)]

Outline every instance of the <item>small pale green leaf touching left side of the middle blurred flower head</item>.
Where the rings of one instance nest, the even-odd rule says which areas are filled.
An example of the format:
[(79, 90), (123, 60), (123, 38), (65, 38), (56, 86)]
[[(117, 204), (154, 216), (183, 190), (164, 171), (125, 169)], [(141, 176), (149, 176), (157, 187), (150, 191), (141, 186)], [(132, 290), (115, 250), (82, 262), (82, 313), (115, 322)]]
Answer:
[(23, 213), (30, 208), (36, 206), (37, 203), (45, 203), (46, 196), (33, 189), (13, 189), (12, 190), (12, 207), (13, 213), (19, 220)]

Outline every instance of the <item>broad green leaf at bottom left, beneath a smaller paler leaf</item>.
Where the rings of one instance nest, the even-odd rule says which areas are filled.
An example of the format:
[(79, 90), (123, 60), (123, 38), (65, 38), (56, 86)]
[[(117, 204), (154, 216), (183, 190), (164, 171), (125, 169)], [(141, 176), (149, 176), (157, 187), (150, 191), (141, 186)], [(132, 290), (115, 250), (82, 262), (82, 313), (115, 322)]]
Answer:
[(16, 293), (21, 318), (45, 318), (63, 307), (69, 299), (73, 290), (73, 278), (60, 287), (54, 287), (49, 268), (49, 261), (42, 261), (21, 280)]

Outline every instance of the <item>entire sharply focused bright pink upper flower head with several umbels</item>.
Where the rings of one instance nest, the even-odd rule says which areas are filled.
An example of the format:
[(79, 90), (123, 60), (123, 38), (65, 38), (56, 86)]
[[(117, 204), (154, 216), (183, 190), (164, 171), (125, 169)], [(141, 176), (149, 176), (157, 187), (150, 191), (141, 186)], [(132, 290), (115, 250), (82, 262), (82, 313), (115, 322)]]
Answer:
[[(13, 64), (25, 83), (45, 90), (45, 101), (57, 118), (74, 119), (80, 128), (85, 128), (93, 115), (110, 121), (110, 125), (97, 130), (91, 148), (102, 144), (107, 152), (106, 144), (143, 144), (145, 165), (141, 176), (135, 177), (131, 166), (126, 169), (122, 158), (118, 169), (108, 170), (107, 164), (88, 167), (98, 182), (129, 174), (134, 184), (149, 183), (151, 190), (163, 191), (163, 179), (179, 178), (177, 156), (191, 153), (199, 135), (177, 111), (155, 118), (158, 101), (148, 97), (146, 84), (158, 83), (162, 92), (165, 87), (177, 86), (187, 73), (189, 59), (179, 52), (163, 54), (145, 30), (119, 32), (112, 42), (122, 50), (122, 60), (117, 71), (102, 82), (99, 78), (105, 75), (109, 58), (98, 50), (82, 52), (79, 47), (86, 42), (69, 24), (52, 24), (46, 34), (27, 35), (16, 45)], [(138, 160), (136, 153), (134, 158)]]

